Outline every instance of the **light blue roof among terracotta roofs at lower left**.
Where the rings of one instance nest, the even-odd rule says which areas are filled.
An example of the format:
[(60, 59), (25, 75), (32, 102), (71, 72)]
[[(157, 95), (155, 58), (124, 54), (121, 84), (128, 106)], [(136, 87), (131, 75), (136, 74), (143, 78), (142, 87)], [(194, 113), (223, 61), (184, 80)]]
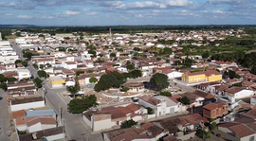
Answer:
[(56, 115), (56, 114), (52, 109), (26, 112), (26, 117), (46, 116), (46, 115)]

